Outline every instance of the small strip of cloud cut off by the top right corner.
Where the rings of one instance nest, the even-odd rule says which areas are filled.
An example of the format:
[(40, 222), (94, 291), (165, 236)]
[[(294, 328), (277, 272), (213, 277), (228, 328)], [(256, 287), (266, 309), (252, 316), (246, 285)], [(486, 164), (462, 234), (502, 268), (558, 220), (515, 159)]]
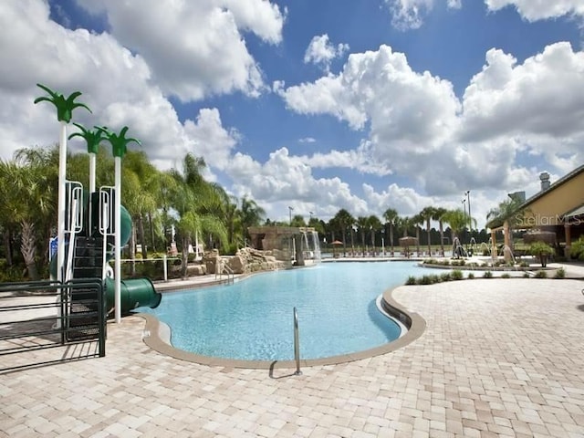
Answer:
[(558, 16), (584, 16), (584, 3), (581, 0), (485, 0), (492, 11), (506, 6), (515, 6), (517, 12), (528, 21), (537, 21)]

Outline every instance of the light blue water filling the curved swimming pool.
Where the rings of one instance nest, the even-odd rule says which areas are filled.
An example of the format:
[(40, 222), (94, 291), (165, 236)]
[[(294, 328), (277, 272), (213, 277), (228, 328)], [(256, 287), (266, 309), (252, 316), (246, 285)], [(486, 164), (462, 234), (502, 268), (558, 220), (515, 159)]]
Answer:
[(428, 272), (410, 262), (326, 263), (167, 293), (158, 308), (140, 310), (170, 326), (177, 349), (237, 360), (293, 360), (296, 307), (301, 358), (327, 358), (399, 338), (399, 326), (381, 314), (375, 299), (408, 276)]

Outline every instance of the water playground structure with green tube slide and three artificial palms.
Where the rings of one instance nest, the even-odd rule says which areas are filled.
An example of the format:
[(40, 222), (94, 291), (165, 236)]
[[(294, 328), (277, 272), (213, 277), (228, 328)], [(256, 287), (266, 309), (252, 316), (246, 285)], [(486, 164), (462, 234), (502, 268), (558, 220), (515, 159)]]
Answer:
[[(73, 118), (73, 111), (84, 108), (91, 112), (84, 103), (76, 101), (81, 92), (75, 91), (66, 99), (64, 95), (36, 84), (47, 95), (35, 99), (35, 104), (48, 102), (57, 110), (59, 132), (59, 167), (58, 167), (58, 205), (57, 205), (57, 257), (52, 272), (57, 283), (66, 285), (78, 279), (98, 279), (106, 290), (106, 308), (115, 310), (116, 322), (120, 322), (121, 313), (131, 308), (149, 305), (155, 308), (160, 304), (158, 294), (147, 278), (121, 280), (121, 246), (130, 238), (130, 214), (121, 206), (121, 158), (126, 153), (128, 143), (140, 141), (126, 137), (128, 127), (120, 133), (111, 132), (106, 127), (96, 126), (87, 130), (75, 123), (78, 132), (67, 136), (67, 128)], [(86, 197), (81, 183), (69, 182), (66, 178), (67, 141), (72, 137), (82, 137), (89, 152), (89, 194)], [(114, 187), (102, 187), (96, 192), (96, 153), (101, 141), (109, 141), (115, 162)], [(123, 238), (122, 238), (123, 234)], [(113, 280), (106, 276), (106, 266), (110, 258), (115, 261)], [(122, 291), (124, 292), (122, 297)], [(81, 301), (83, 294), (78, 294)], [(113, 299), (111, 299), (113, 297)], [(81, 308), (76, 306), (75, 297), (62, 294), (61, 300), (67, 302), (66, 312)], [(113, 307), (111, 303), (113, 301)]]

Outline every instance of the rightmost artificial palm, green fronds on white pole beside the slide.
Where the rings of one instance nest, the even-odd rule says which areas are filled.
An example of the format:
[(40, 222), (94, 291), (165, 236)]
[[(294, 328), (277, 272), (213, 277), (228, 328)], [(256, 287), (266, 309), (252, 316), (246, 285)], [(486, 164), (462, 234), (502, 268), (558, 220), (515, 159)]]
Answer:
[(120, 134), (110, 132), (106, 127), (96, 127), (96, 129), (105, 135), (105, 140), (110, 141), (115, 163), (114, 308), (116, 322), (119, 323), (121, 321), (121, 159), (126, 154), (128, 143), (141, 144), (141, 142), (136, 139), (126, 138), (127, 126), (120, 130)]

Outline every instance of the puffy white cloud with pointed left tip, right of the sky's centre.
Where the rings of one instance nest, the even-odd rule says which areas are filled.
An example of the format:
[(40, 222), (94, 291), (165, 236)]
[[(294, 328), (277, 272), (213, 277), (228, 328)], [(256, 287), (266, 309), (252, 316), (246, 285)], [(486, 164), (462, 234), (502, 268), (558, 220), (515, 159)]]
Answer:
[(369, 158), (370, 169), (381, 174), (391, 172), (404, 151), (426, 154), (438, 148), (457, 126), (460, 110), (450, 82), (413, 71), (405, 55), (388, 46), (351, 54), (339, 75), (280, 86), (278, 92), (299, 113), (331, 114), (354, 130), (370, 127), (370, 141), (358, 151), (366, 158), (349, 161)]

